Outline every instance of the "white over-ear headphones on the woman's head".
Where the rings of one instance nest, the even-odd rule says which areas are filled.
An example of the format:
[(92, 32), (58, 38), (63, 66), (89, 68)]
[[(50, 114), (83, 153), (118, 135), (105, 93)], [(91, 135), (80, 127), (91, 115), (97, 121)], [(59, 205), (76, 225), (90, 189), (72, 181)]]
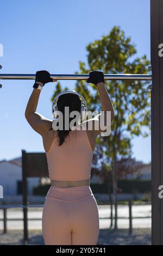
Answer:
[(79, 99), (81, 101), (81, 110), (80, 110), (80, 117), (81, 117), (81, 120), (84, 120), (86, 118), (86, 112), (87, 112), (87, 106), (86, 106), (86, 101), (84, 99), (84, 97), (76, 92), (75, 90), (65, 90), (64, 92), (61, 92), (59, 94), (57, 94), (55, 97), (54, 97), (54, 100), (53, 100), (53, 104), (52, 104), (52, 117), (53, 118), (57, 118), (57, 111), (58, 111), (58, 106), (57, 106), (57, 101), (58, 101), (58, 98), (63, 95), (63, 94), (68, 94), (68, 93), (71, 93), (71, 94), (76, 94), (79, 96)]

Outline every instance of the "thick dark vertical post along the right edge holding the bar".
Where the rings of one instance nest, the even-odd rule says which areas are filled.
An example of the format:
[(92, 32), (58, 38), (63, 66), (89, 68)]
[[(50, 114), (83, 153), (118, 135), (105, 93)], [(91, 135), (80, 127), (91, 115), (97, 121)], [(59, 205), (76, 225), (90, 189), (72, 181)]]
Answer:
[(163, 245), (163, 199), (159, 186), (163, 185), (163, 1), (151, 0), (151, 144), (152, 144), (152, 245)]

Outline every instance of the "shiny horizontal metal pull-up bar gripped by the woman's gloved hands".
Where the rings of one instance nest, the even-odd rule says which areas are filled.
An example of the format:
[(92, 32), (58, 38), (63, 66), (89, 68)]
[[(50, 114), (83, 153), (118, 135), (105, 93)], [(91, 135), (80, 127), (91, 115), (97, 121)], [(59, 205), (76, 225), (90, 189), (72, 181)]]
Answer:
[[(57, 80), (87, 80), (87, 74), (51, 75)], [(0, 74), (0, 80), (35, 80), (35, 74)], [(142, 80), (151, 81), (152, 75), (142, 74), (104, 74), (104, 80)]]

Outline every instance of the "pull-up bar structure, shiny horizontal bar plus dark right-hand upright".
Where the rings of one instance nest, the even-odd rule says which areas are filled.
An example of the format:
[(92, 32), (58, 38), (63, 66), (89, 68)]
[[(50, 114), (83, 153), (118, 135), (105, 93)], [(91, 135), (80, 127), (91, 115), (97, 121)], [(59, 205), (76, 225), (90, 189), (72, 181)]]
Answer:
[[(163, 198), (159, 197), (163, 185), (163, 1), (151, 0), (151, 65), (152, 75), (107, 74), (105, 80), (152, 80), (151, 91), (151, 171), (152, 171), (152, 245), (163, 245)], [(140, 36), (141, 40), (141, 36)], [(87, 80), (89, 75), (51, 75), (57, 80)], [(2, 74), (0, 80), (34, 80), (35, 75)], [(1, 86), (1, 84), (0, 84)], [(2, 87), (2, 86), (1, 86)], [(24, 169), (26, 170), (26, 161)]]

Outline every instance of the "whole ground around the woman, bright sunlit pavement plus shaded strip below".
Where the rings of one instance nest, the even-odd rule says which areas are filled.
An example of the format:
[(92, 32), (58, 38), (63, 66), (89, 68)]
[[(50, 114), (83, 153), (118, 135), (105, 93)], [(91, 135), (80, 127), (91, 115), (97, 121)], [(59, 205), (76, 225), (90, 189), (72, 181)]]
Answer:
[[(118, 206), (118, 230), (109, 229), (110, 227), (110, 208), (108, 205), (98, 205), (99, 209), (99, 245), (151, 245), (151, 205), (134, 205), (133, 212), (133, 234), (129, 235), (128, 206)], [(3, 218), (3, 212), (0, 211), (0, 218)], [(21, 209), (10, 209), (7, 214), (8, 233), (2, 234), (3, 222), (0, 222), (0, 244), (21, 245), (23, 244), (23, 222), (16, 221), (16, 218), (22, 218)], [(29, 244), (43, 245), (41, 233), (42, 208), (31, 208), (28, 212), (28, 218), (40, 219), (28, 221)], [(13, 220), (14, 219), (14, 220)]]

